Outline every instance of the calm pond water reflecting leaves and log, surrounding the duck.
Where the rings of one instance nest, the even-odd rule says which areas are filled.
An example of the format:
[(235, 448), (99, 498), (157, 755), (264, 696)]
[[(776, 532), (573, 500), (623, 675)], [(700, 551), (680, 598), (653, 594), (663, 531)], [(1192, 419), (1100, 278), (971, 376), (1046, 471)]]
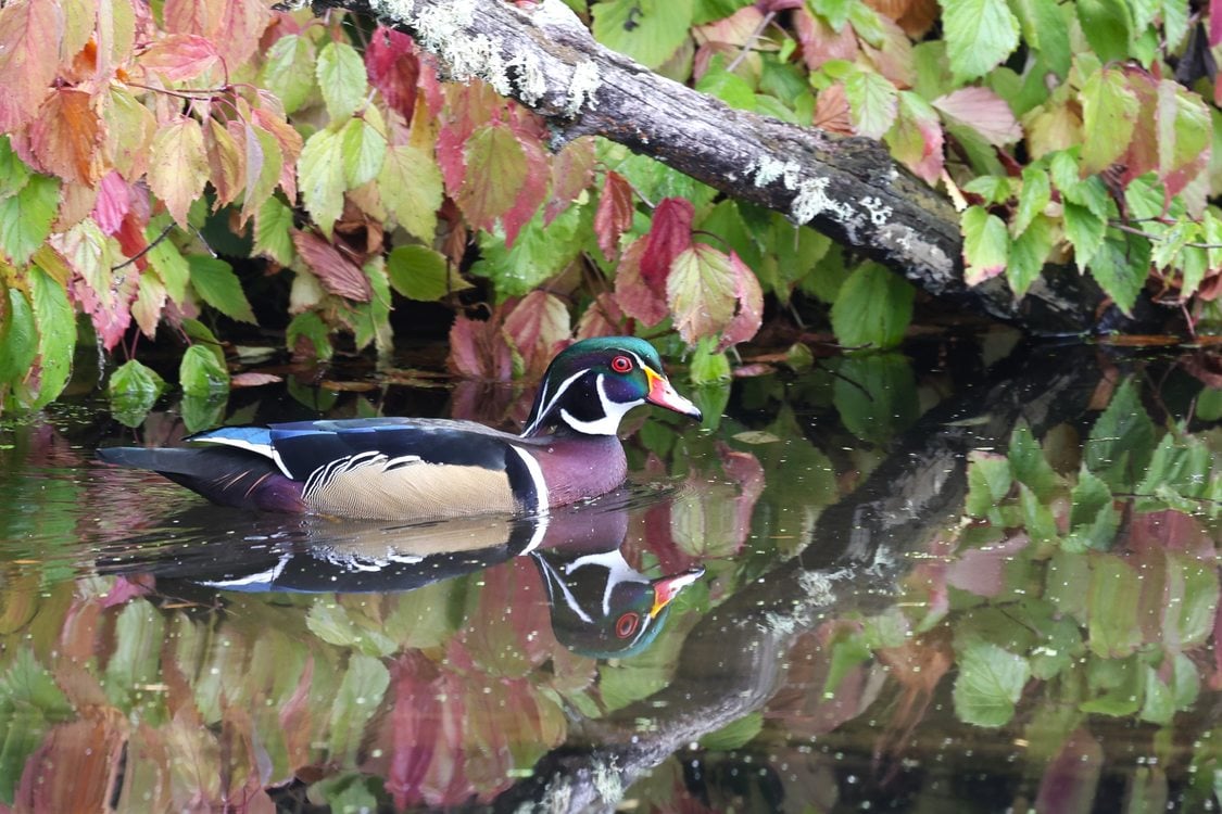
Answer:
[(1216, 810), (1222, 365), (1008, 350), (760, 365), (703, 428), (633, 414), (629, 484), (541, 520), (254, 515), (93, 459), (513, 427), (528, 388), (5, 416), (0, 808)]

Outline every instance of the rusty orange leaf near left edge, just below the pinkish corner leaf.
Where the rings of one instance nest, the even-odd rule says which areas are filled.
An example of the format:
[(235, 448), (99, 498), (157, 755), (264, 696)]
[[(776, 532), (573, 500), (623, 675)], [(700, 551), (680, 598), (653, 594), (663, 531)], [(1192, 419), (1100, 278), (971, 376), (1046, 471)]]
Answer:
[(29, 145), (49, 172), (92, 187), (98, 181), (101, 128), (89, 94), (60, 88), (39, 109)]

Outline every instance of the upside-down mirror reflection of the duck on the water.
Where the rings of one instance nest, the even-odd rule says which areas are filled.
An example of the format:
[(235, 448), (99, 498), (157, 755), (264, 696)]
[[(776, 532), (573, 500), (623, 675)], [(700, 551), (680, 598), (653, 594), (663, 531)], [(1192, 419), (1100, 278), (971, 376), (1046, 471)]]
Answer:
[[(172, 525), (215, 530), (221, 513), (227, 510), (192, 509)], [(484, 515), (390, 527), (316, 515), (292, 522), (233, 515), (235, 525), (248, 530), (241, 538), (188, 533), (187, 543), (165, 543), (164, 535), (149, 535), (109, 547), (98, 570), (152, 575), (158, 592), (172, 596), (199, 588), (398, 593), (529, 556), (546, 588), (556, 639), (591, 658), (644, 650), (675, 597), (704, 574), (693, 567), (651, 578), (628, 563), (627, 491), (538, 517)]]

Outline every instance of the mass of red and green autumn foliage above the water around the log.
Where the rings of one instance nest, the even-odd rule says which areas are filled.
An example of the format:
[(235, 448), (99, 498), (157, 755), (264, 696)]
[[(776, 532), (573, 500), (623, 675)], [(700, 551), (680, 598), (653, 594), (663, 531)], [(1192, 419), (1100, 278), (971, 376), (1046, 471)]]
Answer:
[[(567, 5), (609, 48), (732, 106), (881, 139), (960, 207), (969, 282), (1004, 275), (1022, 295), (1041, 273), (1089, 273), (1122, 310), (1149, 293), (1194, 330), (1217, 321), (1212, 9)], [(442, 82), (367, 18), (13, 0), (0, 45), (9, 408), (54, 399), (77, 342), (128, 360), (111, 389), (148, 402), (164, 382), (134, 359), (159, 331), (189, 345), (180, 383), (202, 397), (229, 387), (215, 334), (238, 323), (282, 330), (302, 358), (385, 359), (408, 300), (447, 305), (451, 367), (494, 378), (611, 332), (675, 336), (693, 377), (717, 378), (765, 297), (782, 316), (822, 303), (847, 345), (893, 345), (910, 320), (913, 289), (880, 266), (620, 145), (552, 153), (523, 106)]]

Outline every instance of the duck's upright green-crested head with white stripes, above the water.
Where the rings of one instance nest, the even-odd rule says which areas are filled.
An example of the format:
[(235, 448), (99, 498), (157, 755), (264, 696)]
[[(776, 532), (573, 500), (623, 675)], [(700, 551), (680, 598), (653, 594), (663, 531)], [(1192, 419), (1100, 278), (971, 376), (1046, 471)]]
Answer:
[(590, 436), (613, 436), (624, 414), (646, 403), (698, 421), (701, 417), (700, 410), (671, 387), (662, 360), (644, 339), (582, 339), (547, 367), (522, 434), (567, 427)]

